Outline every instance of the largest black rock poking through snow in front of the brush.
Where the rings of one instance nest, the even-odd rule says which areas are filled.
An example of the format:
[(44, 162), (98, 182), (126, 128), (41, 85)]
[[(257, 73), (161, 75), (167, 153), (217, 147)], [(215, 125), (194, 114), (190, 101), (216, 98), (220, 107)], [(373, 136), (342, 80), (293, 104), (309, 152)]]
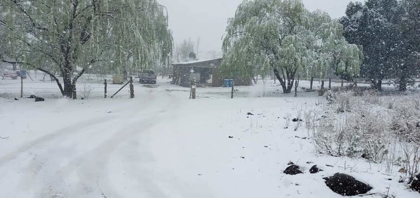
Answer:
[(325, 184), (337, 194), (342, 196), (356, 196), (360, 194), (366, 194), (372, 187), (369, 185), (356, 180), (354, 177), (336, 173), (334, 176), (324, 178)]

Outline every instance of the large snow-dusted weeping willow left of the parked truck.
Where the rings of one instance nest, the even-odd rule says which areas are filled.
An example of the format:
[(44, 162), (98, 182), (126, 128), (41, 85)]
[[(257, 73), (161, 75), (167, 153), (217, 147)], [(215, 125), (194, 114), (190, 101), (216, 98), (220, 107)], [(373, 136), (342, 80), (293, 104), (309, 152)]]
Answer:
[(127, 73), (172, 56), (163, 8), (156, 0), (1, 0), (3, 61), (50, 75), (64, 97), (75, 98), (87, 71)]

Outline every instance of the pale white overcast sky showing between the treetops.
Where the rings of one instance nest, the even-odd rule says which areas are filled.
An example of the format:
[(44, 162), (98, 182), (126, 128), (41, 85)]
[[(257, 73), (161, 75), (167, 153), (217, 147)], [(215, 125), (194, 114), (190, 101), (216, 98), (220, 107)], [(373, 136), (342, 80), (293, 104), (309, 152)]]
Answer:
[[(309, 10), (321, 9), (331, 17), (344, 15), (351, 0), (303, 0)], [(354, 0), (353, 0), (354, 1)], [(360, 0), (359, 0), (360, 1)], [(221, 37), (227, 18), (233, 17), (242, 0), (158, 0), (169, 12), (169, 27), (175, 43), (200, 37), (199, 57), (206, 58), (208, 51), (221, 51)]]

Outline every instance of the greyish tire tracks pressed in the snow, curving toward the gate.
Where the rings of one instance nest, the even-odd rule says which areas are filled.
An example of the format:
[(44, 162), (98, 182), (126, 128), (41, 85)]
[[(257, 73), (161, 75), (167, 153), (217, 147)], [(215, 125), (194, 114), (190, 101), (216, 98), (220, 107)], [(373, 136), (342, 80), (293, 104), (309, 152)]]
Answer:
[[(169, 96), (169, 95), (168, 95)], [(175, 97), (171, 97), (171, 98), (175, 98)], [(153, 97), (150, 99), (153, 101)], [(149, 101), (150, 101), (149, 100)], [(176, 99), (175, 99), (176, 100)], [(174, 101), (170, 100), (170, 101)], [(164, 102), (167, 105), (163, 107), (163, 109), (156, 109), (152, 112), (152, 114), (156, 114), (159, 112), (165, 112), (168, 110), (168, 107), (172, 107), (172, 103), (170, 102)], [(153, 106), (160, 106), (160, 105), (149, 105), (149, 108), (153, 107)], [(178, 106), (178, 105), (175, 105)], [(155, 112), (156, 111), (156, 112)], [(131, 111), (131, 113), (129, 114), (125, 114), (123, 118), (118, 118), (120, 121), (124, 121), (127, 122), (126, 118), (132, 117), (134, 114), (139, 113), (138, 111)], [(57, 170), (57, 168), (51, 167), (51, 166), (47, 166), (46, 168), (48, 168), (48, 170), (45, 170), (46, 168), (44, 168), (43, 173), (38, 174), (38, 172), (36, 173), (31, 173), (31, 170), (34, 169), (34, 166), (37, 167), (36, 170), (40, 171), (42, 169), (42, 165), (45, 164), (50, 164), (51, 162), (48, 161), (49, 157), (50, 157), (50, 153), (48, 151), (43, 151), (42, 154), (38, 154), (33, 160), (31, 160), (31, 162), (29, 163), (28, 167), (27, 167), (27, 172), (28, 175), (24, 177), (24, 179), (22, 180), (22, 186), (26, 186), (27, 189), (30, 189), (30, 185), (24, 183), (24, 181), (42, 181), (47, 179), (47, 181), (44, 181), (44, 187), (42, 187), (42, 189), (39, 193), (42, 194), (41, 197), (60, 197), (60, 196), (64, 196), (65, 194), (59, 193), (57, 194), (56, 192), (60, 192), (57, 191), (59, 189), (62, 189), (61, 192), (65, 192), (65, 186), (66, 186), (66, 180), (67, 177), (69, 176), (69, 174), (72, 174), (73, 171), (77, 171), (77, 175), (79, 178), (83, 178), (83, 181), (80, 181), (80, 187), (82, 187), (82, 190), (79, 191), (77, 194), (77, 196), (74, 196), (75, 192), (71, 192), (69, 195), (72, 195), (71, 197), (83, 197), (83, 195), (86, 194), (92, 194), (93, 192), (101, 192), (101, 188), (99, 187), (99, 185), (97, 184), (99, 181), (99, 176), (100, 175), (104, 175), (104, 166), (108, 161), (109, 158), (109, 154), (119, 145), (124, 143), (124, 141), (129, 140), (130, 138), (133, 137), (133, 135), (135, 135), (136, 133), (139, 133), (137, 130), (131, 130), (133, 128), (133, 126), (143, 126), (142, 130), (146, 130), (149, 127), (152, 127), (156, 124), (158, 124), (159, 122), (153, 122), (154, 120), (156, 120), (156, 118), (159, 118), (159, 116), (154, 116), (154, 117), (150, 117), (148, 119), (145, 119), (144, 121), (138, 123), (138, 119), (137, 118), (131, 118), (131, 120), (129, 119), (128, 123), (131, 123), (129, 126), (124, 127), (122, 130), (120, 131), (116, 131), (111, 133), (111, 137), (109, 137), (105, 142), (101, 143), (99, 146), (96, 146), (95, 149), (88, 151), (84, 154), (82, 154), (79, 157), (76, 157), (75, 159), (71, 160), (69, 163), (67, 163), (67, 165), (65, 165), (64, 167), (60, 168)], [(113, 118), (109, 118), (106, 121), (109, 121), (111, 119), (116, 119), (115, 117)], [(104, 121), (103, 119), (95, 119), (95, 121)], [(92, 120), (86, 121), (84, 123), (87, 122), (92, 122)], [(95, 122), (94, 122), (95, 123)], [(107, 122), (108, 123), (108, 122)], [(99, 129), (106, 129), (108, 126), (112, 125), (112, 123), (108, 123), (108, 124), (103, 124), (103, 123), (96, 123), (96, 124), (87, 124), (85, 127), (82, 128), (78, 128), (77, 130), (73, 128), (68, 128), (68, 130), (65, 131), (61, 131), (59, 132), (59, 134), (68, 134), (71, 136), (77, 136), (83, 133), (87, 133), (87, 134), (92, 134), (93, 136), (98, 135), (101, 133), (101, 130)], [(146, 126), (146, 127), (144, 127)], [(70, 133), (71, 131), (71, 133)], [(61, 135), (62, 136), (62, 135)], [(49, 138), (41, 138), (40, 140), (42, 141), (34, 141), (32, 143), (32, 145), (30, 147), (26, 147), (26, 150), (30, 150), (34, 148), (34, 145), (42, 145), (42, 144), (49, 144), (51, 143), (52, 145), (50, 145), (51, 148), (55, 148), (55, 149), (59, 149), (60, 148), (60, 143), (59, 140), (61, 139), (65, 139), (66, 135), (64, 135), (63, 137), (60, 137), (58, 135), (54, 135), (52, 134), (52, 136), (50, 136)], [(54, 143), (58, 143), (58, 145), (54, 145)], [(62, 156), (55, 156), (54, 160), (60, 161), (60, 157)], [(38, 166), (41, 167), (38, 167)], [(96, 170), (95, 170), (96, 169)], [(89, 170), (94, 170), (92, 171), (92, 173), (86, 173), (86, 171)], [(96, 176), (96, 177), (95, 177)], [(29, 180), (28, 180), (29, 179)], [(84, 182), (85, 181), (85, 182)], [(108, 182), (109, 183), (109, 182)], [(111, 182), (112, 183), (112, 182)], [(62, 187), (58, 187), (61, 184)], [(111, 185), (107, 185), (107, 186), (111, 186)], [(57, 188), (58, 187), (58, 188)], [(63, 188), (64, 187), (64, 188)], [(107, 188), (108, 190), (109, 188)], [(80, 189), (79, 189), (80, 190)], [(39, 195), (39, 194), (38, 194)], [(99, 195), (99, 194), (98, 194)], [(89, 196), (88, 196), (89, 197)]]

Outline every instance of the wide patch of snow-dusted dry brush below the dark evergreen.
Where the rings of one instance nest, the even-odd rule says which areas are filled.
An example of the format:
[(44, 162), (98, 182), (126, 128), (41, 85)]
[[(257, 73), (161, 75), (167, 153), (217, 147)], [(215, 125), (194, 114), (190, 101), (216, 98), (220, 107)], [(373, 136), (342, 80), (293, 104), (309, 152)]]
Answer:
[(408, 181), (419, 174), (419, 96), (381, 97), (359, 90), (327, 92), (324, 99), (328, 115), (306, 125), (319, 152), (386, 163), (389, 171), (403, 166)]

